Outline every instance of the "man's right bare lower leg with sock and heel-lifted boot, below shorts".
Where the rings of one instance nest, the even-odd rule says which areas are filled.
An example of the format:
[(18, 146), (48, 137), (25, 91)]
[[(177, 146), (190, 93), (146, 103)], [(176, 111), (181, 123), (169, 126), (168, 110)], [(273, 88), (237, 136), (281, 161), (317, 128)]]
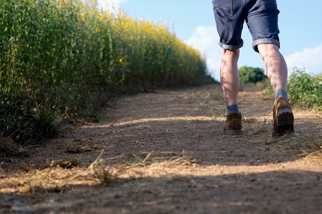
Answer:
[(273, 108), (273, 137), (294, 132), (294, 115), (288, 102), (288, 68), (278, 46), (258, 45), (258, 51), (265, 63), (266, 73), (275, 92)]

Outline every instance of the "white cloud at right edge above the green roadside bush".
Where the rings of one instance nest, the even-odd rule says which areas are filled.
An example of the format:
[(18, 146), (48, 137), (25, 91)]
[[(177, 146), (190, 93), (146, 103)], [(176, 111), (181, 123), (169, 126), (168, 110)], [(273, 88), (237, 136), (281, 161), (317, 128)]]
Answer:
[(322, 44), (314, 48), (305, 48), (285, 57), (289, 68), (305, 68), (307, 72), (322, 72)]

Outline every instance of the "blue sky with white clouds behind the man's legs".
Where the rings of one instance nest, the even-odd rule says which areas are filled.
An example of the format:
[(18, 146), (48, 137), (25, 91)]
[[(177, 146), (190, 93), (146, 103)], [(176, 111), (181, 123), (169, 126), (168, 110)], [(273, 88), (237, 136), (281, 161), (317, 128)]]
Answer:
[[(98, 0), (101, 6), (113, 3), (136, 17), (145, 20), (168, 20), (170, 30), (188, 44), (199, 49), (207, 59), (212, 75), (219, 79), (222, 49), (214, 22), (211, 0)], [(310, 73), (322, 72), (322, 1), (277, 0), (279, 15), (280, 51), (289, 69), (294, 66)], [(308, 7), (307, 7), (308, 6)], [(264, 68), (258, 53), (252, 49), (252, 36), (244, 26), (244, 47), (239, 66)]]

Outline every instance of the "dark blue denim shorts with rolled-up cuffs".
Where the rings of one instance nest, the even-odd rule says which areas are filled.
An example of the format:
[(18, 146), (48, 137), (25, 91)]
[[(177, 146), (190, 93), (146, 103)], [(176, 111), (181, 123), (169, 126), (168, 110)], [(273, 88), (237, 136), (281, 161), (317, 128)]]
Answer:
[(245, 21), (256, 52), (260, 44), (280, 47), (276, 0), (213, 0), (212, 5), (222, 48), (243, 47), (241, 34)]

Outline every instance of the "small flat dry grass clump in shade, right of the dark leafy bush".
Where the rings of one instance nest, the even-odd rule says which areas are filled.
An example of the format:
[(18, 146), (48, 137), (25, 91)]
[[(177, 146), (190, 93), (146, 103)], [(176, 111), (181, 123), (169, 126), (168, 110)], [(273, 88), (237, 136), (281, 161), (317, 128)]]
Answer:
[(69, 153), (79, 154), (86, 151), (93, 151), (95, 149), (95, 145), (91, 145), (91, 142), (86, 139), (85, 140), (67, 140), (61, 145), (60, 148)]

